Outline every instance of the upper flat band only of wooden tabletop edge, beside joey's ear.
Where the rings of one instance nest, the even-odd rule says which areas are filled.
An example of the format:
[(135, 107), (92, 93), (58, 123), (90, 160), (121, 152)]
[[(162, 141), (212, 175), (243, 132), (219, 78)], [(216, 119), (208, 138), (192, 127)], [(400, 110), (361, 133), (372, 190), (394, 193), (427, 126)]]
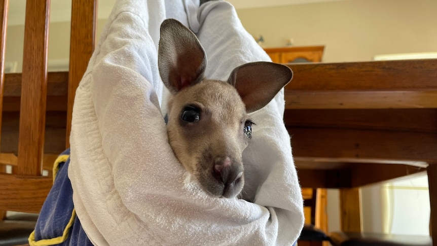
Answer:
[(437, 59), (287, 64), (302, 91), (409, 91), (437, 89)]

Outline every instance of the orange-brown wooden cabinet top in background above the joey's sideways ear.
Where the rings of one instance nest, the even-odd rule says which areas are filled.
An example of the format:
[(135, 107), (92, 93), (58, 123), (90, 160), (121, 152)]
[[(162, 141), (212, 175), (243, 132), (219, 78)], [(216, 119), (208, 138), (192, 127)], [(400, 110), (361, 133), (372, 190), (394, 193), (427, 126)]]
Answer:
[(276, 63), (320, 62), (324, 46), (265, 48), (264, 50)]

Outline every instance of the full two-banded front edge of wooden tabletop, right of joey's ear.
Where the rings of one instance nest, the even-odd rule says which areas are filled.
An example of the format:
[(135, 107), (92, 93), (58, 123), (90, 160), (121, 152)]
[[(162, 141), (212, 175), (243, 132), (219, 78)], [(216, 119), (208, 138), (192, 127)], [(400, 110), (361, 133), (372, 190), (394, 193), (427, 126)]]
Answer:
[(286, 109), (437, 108), (437, 59), (288, 66)]

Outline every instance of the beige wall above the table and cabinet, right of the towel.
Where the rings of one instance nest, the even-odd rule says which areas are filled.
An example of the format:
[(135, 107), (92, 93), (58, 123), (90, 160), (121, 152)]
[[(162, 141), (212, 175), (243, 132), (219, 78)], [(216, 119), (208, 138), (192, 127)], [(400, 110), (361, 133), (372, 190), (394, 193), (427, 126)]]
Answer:
[(239, 9), (265, 47), (325, 45), (323, 61), (366, 61), (374, 55), (437, 52), (437, 1), (355, 0)]

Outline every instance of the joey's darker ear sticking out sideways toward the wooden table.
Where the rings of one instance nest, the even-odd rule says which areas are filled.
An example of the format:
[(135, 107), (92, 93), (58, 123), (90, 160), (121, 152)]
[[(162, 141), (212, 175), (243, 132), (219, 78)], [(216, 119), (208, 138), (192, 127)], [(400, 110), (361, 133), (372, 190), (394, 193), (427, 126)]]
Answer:
[(247, 113), (250, 113), (266, 106), (292, 78), (293, 72), (289, 67), (259, 61), (236, 67), (228, 82), (237, 89)]

